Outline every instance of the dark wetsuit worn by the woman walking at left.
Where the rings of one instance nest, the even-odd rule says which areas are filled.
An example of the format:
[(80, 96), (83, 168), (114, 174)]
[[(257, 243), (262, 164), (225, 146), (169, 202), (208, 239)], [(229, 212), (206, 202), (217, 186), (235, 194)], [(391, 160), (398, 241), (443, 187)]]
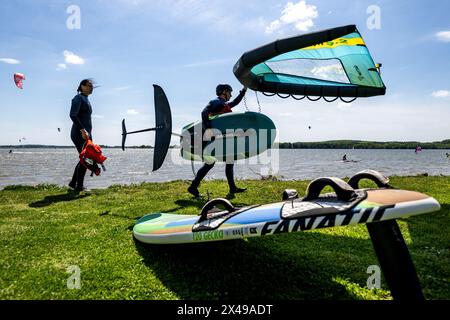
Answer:
[[(73, 121), (72, 130), (70, 131), (70, 138), (72, 139), (78, 153), (83, 150), (85, 140), (81, 135), (81, 129), (85, 129), (89, 133), (92, 140), (92, 107), (88, 97), (83, 94), (78, 94), (72, 99), (72, 106), (70, 108), (70, 119)], [(83, 188), (84, 176), (86, 174), (86, 167), (78, 162), (75, 167), (72, 181), (69, 185)]]

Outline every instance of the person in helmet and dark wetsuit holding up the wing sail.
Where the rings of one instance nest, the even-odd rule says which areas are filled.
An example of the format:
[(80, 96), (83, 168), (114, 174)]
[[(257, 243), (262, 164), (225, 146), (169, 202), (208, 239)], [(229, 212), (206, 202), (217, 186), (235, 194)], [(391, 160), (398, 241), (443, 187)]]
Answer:
[[(211, 100), (208, 105), (202, 111), (202, 125), (203, 132), (207, 132), (209, 128), (211, 128), (211, 121), (209, 119), (210, 116), (215, 116), (222, 113), (232, 112), (231, 109), (237, 106), (242, 98), (244, 97), (247, 88), (244, 87), (239, 95), (231, 102), (228, 102), (231, 99), (231, 91), (233, 89), (228, 84), (219, 84), (216, 87), (216, 95), (217, 98)], [(214, 167), (214, 162), (211, 164), (204, 163), (203, 166), (198, 170), (197, 175), (192, 181), (191, 185), (188, 188), (188, 192), (191, 193), (194, 197), (200, 197), (200, 192), (198, 191), (198, 187), (202, 179), (206, 176), (206, 174)], [(227, 177), (228, 185), (230, 187), (230, 194), (244, 192), (246, 188), (238, 188), (234, 182), (234, 163), (227, 163), (225, 167), (225, 174)]]

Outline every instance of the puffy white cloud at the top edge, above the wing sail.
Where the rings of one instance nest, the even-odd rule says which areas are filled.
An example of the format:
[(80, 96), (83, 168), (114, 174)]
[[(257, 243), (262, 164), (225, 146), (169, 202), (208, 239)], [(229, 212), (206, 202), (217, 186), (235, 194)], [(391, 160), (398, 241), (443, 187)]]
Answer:
[(299, 31), (308, 31), (314, 26), (313, 19), (317, 18), (319, 13), (317, 7), (306, 4), (306, 1), (301, 0), (296, 4), (288, 2), (281, 11), (280, 18), (272, 21), (266, 27), (266, 33), (273, 33), (274, 31), (282, 31), (282, 28), (294, 24), (295, 29)]

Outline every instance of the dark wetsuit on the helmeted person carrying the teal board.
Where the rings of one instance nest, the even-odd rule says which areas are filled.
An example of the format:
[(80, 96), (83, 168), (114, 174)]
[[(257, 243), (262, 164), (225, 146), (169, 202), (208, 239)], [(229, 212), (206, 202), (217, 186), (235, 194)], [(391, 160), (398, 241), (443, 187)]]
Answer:
[[(239, 95), (231, 102), (227, 103), (222, 98), (216, 98), (211, 100), (208, 105), (202, 111), (202, 126), (203, 130), (211, 128), (211, 121), (209, 117), (211, 115), (217, 115), (222, 113), (231, 112), (231, 108), (237, 106), (245, 95), (245, 91), (241, 90)], [(214, 167), (214, 162), (211, 164), (204, 163), (203, 166), (198, 170), (194, 181), (192, 181), (191, 186), (198, 188), (202, 179), (206, 174)], [(225, 165), (225, 175), (227, 177), (228, 185), (230, 190), (235, 190), (236, 184), (234, 183), (234, 163), (227, 163)]]

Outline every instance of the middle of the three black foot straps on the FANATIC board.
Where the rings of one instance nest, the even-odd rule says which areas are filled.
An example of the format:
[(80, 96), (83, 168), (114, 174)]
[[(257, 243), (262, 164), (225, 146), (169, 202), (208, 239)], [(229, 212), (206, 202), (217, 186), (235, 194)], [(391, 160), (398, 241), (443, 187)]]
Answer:
[(355, 190), (344, 180), (336, 177), (317, 178), (310, 182), (306, 190), (306, 196), (302, 201), (309, 201), (319, 198), (320, 192), (330, 186), (336, 192), (337, 198), (343, 201), (350, 201), (356, 196)]

